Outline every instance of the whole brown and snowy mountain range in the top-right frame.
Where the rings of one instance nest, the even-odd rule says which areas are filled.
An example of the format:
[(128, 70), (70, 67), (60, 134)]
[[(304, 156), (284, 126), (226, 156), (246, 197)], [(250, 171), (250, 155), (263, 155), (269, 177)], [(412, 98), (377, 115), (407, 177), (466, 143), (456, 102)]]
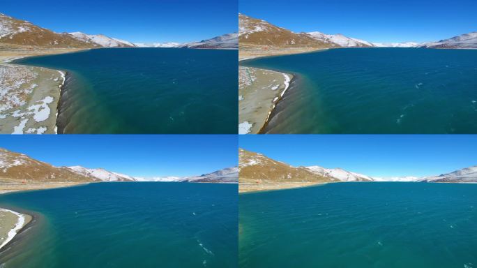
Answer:
[(241, 47), (268, 45), (273, 47), (449, 47), (477, 48), (477, 32), (431, 43), (371, 43), (342, 34), (320, 31), (294, 33), (264, 20), (239, 14), (239, 44)]

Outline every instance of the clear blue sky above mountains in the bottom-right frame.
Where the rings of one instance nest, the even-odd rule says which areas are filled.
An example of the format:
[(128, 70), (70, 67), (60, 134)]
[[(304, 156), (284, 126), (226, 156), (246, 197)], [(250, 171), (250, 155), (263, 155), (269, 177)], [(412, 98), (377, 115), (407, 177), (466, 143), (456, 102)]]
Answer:
[(241, 135), (239, 146), (294, 166), (374, 177), (422, 177), (477, 165), (477, 135)]

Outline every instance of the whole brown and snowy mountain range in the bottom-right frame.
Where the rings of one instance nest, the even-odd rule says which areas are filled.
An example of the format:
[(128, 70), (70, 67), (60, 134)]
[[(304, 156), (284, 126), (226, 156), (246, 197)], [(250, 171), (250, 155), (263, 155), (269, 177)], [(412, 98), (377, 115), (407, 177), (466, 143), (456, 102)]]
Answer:
[(432, 177), (371, 177), (341, 168), (323, 168), (319, 165), (294, 167), (287, 163), (244, 149), (239, 150), (239, 178), (271, 181), (423, 181), (423, 182), (477, 182), (477, 165)]

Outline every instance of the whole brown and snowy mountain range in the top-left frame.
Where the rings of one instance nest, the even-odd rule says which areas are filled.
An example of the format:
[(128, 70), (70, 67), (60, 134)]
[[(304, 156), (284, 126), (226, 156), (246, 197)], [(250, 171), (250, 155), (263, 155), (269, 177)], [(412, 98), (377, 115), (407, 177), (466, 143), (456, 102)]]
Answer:
[(185, 48), (238, 48), (237, 34), (224, 34), (194, 43), (131, 43), (103, 34), (84, 34), (80, 31), (55, 33), (25, 20), (0, 13), (0, 43), (11, 45), (54, 47), (185, 47)]

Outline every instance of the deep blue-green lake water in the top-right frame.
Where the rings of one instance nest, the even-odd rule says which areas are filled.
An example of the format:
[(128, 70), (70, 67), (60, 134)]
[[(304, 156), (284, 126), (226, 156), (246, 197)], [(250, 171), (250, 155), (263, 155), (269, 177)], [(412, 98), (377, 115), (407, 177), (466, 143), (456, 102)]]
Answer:
[(477, 133), (477, 50), (347, 48), (242, 64), (297, 77), (266, 133)]

